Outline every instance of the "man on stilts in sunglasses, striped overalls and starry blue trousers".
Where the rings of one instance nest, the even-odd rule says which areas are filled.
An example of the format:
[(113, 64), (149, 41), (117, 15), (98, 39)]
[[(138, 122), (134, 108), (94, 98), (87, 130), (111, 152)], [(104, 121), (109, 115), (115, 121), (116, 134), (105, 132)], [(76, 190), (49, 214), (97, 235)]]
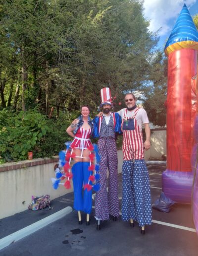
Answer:
[[(133, 93), (125, 95), (127, 108), (117, 113), (122, 118), (123, 165), (122, 165), (122, 220), (139, 223), (141, 233), (145, 225), (151, 224), (151, 199), (148, 170), (144, 160), (144, 150), (150, 148), (150, 128), (147, 112), (136, 106)], [(142, 126), (145, 127), (146, 140), (143, 142)]]

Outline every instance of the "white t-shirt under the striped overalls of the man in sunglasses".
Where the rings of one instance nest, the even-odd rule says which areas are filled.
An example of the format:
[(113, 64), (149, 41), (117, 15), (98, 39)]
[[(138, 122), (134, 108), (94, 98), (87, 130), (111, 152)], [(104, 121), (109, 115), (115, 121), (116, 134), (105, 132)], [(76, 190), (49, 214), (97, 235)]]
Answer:
[[(121, 116), (122, 120), (124, 118), (125, 110), (126, 110), (126, 108), (121, 109), (120, 111), (117, 112)], [(129, 118), (133, 117), (135, 110), (136, 109), (134, 109), (132, 111), (127, 110), (127, 115), (126, 116), (129, 117)], [(143, 109), (143, 108), (139, 109), (138, 113), (136, 114), (136, 121), (137, 121), (137, 123), (140, 127), (140, 131), (142, 131), (142, 125), (143, 124), (149, 124), (147, 112), (146, 112), (145, 109)]]

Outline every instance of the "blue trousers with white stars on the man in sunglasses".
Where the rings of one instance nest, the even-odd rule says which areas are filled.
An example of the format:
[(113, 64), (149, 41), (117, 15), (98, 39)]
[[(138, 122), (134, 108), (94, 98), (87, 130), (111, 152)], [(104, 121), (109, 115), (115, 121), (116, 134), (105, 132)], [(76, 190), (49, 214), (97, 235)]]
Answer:
[(151, 198), (145, 160), (127, 160), (122, 165), (122, 220), (140, 226), (151, 224)]

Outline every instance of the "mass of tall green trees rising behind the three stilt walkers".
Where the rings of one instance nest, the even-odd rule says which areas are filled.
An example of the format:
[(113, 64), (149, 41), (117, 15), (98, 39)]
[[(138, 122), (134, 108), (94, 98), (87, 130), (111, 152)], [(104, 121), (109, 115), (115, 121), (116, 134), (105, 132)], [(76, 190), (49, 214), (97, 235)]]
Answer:
[[(155, 84), (152, 91), (157, 93), (159, 82), (152, 74), (161, 71), (162, 63), (157, 66), (157, 37), (148, 26), (142, 0), (2, 0), (0, 116), (12, 113), (23, 123), (25, 112), (37, 107), (42, 115), (35, 117), (39, 124), (52, 107), (53, 118), (79, 110), (82, 104), (96, 111), (102, 87), (110, 87), (117, 101), (124, 92), (134, 90), (147, 99), (150, 84)], [(62, 118), (64, 123), (68, 117)], [(52, 122), (46, 119), (42, 124), (50, 127)], [(5, 127), (0, 136), (5, 135)], [(38, 127), (36, 130), (42, 133)], [(35, 146), (53, 137), (50, 128), (45, 130), (40, 139), (36, 133), (29, 138), (25, 131), (29, 145), (36, 137)], [(39, 149), (34, 149), (39, 155)], [(20, 159), (26, 151), (21, 151), (25, 154), (20, 154)]]

